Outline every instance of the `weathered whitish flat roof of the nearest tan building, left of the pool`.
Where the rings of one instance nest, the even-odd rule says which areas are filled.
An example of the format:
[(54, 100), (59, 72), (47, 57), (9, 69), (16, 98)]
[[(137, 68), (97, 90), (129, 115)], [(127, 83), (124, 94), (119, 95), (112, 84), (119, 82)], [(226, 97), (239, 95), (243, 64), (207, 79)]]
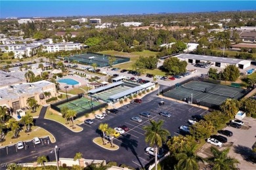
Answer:
[(21, 95), (28, 95), (33, 93), (43, 93), (42, 88), (53, 84), (47, 80), (41, 80), (39, 82), (27, 83), (23, 82), (20, 84), (12, 84), (11, 86), (5, 86), (0, 88), (0, 100), (1, 99), (17, 99)]

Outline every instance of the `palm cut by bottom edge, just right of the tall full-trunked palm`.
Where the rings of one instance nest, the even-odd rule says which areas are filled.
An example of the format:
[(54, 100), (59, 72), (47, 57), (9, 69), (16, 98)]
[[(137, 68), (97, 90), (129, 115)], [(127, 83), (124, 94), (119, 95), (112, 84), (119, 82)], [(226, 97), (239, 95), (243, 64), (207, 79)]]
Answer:
[(184, 151), (175, 156), (179, 160), (177, 169), (199, 169), (198, 161), (202, 161), (202, 158), (196, 156), (194, 152), (195, 146), (195, 144), (187, 144), (184, 146)]

